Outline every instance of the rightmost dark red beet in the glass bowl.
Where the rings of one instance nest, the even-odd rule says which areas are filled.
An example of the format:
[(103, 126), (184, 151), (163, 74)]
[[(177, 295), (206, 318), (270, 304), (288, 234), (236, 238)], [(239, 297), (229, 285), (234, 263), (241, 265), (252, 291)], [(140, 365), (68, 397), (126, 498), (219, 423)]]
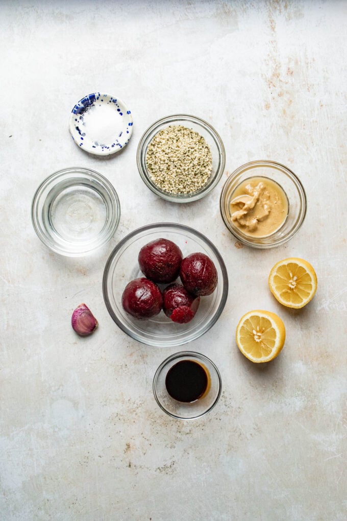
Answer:
[(179, 276), (183, 286), (193, 295), (210, 295), (217, 287), (216, 267), (204, 253), (191, 253), (185, 257)]

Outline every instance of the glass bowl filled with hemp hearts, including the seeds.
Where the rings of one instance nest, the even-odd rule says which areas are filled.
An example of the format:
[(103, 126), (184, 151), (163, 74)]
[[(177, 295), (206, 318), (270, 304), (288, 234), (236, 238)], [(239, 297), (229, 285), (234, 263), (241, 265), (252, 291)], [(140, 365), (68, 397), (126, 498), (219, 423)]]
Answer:
[(137, 147), (147, 187), (166, 201), (190, 203), (216, 186), (225, 166), (219, 134), (195, 116), (176, 114), (151, 125)]

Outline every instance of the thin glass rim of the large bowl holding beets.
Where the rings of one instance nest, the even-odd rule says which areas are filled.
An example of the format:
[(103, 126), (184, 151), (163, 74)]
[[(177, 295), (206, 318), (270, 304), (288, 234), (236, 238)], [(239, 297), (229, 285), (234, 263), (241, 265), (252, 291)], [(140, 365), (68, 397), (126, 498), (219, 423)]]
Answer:
[[(151, 230), (153, 228), (165, 228), (165, 227), (173, 227), (173, 228), (179, 229), (179, 230), (187, 230), (187, 231), (191, 232), (193, 235), (197, 235), (199, 237), (199, 239), (202, 239), (204, 242), (206, 242), (208, 244), (208, 246), (211, 248), (213, 253), (216, 255), (216, 257), (218, 259), (218, 262), (219, 262), (219, 266), (220, 266), (221, 271), (222, 271), (223, 288), (222, 288), (222, 294), (221, 294), (221, 301), (220, 301), (220, 303), (219, 303), (219, 305), (218, 305), (218, 307), (217, 307), (217, 309), (216, 309), (216, 311), (215, 311), (215, 313), (213, 315), (213, 319), (209, 322), (209, 328), (208, 329), (202, 329), (202, 331), (199, 332), (199, 335), (197, 337), (195, 337), (194, 340), (200, 338), (205, 332), (209, 331), (214, 326), (216, 321), (219, 319), (219, 317), (221, 316), (221, 314), (223, 312), (223, 309), (225, 307), (225, 304), (226, 304), (226, 301), (227, 301), (227, 297), (228, 297), (228, 290), (229, 290), (228, 272), (227, 272), (227, 269), (226, 269), (226, 266), (225, 266), (225, 263), (224, 263), (222, 255), (217, 250), (216, 246), (212, 243), (212, 241), (210, 241), (210, 239), (205, 237), (205, 235), (203, 235), (198, 230), (195, 230), (194, 228), (190, 228), (189, 226), (186, 226), (186, 225), (178, 224), (177, 222), (155, 222), (155, 223), (152, 223), (152, 224), (149, 224), (149, 225), (145, 225), (145, 226), (141, 226), (139, 228), (136, 228), (132, 232), (130, 232), (127, 235), (125, 235), (125, 237), (123, 237), (123, 239), (121, 239), (118, 242), (118, 244), (115, 245), (115, 247), (113, 248), (112, 252), (110, 253), (110, 255), (109, 255), (108, 259), (107, 259), (107, 262), (105, 264), (104, 274), (102, 276), (102, 295), (104, 297), (104, 302), (105, 302), (107, 311), (108, 311), (109, 315), (111, 316), (112, 320), (115, 322), (115, 324), (117, 324), (117, 326), (124, 333), (128, 334), (128, 336), (130, 336), (132, 339), (134, 339), (134, 340), (136, 340), (138, 342), (141, 342), (141, 343), (143, 343), (145, 345), (149, 345), (151, 347), (159, 347), (159, 348), (161, 347), (162, 349), (169, 348), (169, 346), (166, 346), (166, 345), (160, 346), (160, 345), (157, 345), (157, 344), (152, 344), (150, 342), (145, 342), (143, 338), (140, 338), (136, 333), (134, 334), (133, 331), (131, 331), (128, 327), (126, 327), (126, 326), (124, 326), (122, 324), (122, 322), (119, 320), (119, 318), (117, 317), (117, 315), (114, 313), (114, 311), (112, 309), (112, 306), (111, 306), (111, 303), (110, 303), (110, 299), (109, 299), (109, 296), (108, 296), (107, 280), (108, 280), (108, 275), (109, 275), (109, 271), (110, 271), (110, 266), (111, 266), (111, 264), (113, 262), (114, 256), (122, 249), (122, 247), (124, 246), (124, 244), (126, 244), (128, 242), (128, 240), (132, 239), (133, 237), (136, 237), (136, 235), (138, 235), (139, 233), (141, 233), (143, 231)], [(188, 342), (191, 342), (191, 341), (192, 341), (192, 339), (186, 340), (186, 341), (181, 341), (181, 342), (179, 342), (177, 344), (170, 345), (170, 347), (172, 348), (174, 346), (184, 345), (184, 344), (186, 344)]]

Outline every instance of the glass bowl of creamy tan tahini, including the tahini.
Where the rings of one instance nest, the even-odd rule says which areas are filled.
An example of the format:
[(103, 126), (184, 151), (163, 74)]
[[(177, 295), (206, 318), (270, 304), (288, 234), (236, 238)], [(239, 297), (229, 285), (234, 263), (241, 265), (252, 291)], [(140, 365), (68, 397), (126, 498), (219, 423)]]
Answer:
[(243, 244), (271, 248), (289, 241), (306, 215), (300, 179), (275, 161), (252, 161), (226, 180), (220, 197), (225, 226)]

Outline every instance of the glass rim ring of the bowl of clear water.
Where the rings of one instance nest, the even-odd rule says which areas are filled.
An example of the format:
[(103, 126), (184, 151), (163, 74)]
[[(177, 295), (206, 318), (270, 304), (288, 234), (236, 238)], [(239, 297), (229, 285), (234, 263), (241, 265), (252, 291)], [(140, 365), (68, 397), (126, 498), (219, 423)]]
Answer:
[[(114, 207), (116, 209), (113, 226), (110, 228), (105, 239), (100, 244), (97, 244), (96, 246), (93, 246), (91, 249), (83, 251), (83, 252), (71, 252), (68, 250), (62, 250), (61, 248), (56, 247), (54, 244), (48, 242), (46, 240), (46, 234), (43, 232), (43, 230), (45, 231), (46, 228), (41, 226), (40, 219), (37, 216), (38, 204), (40, 203), (40, 198), (42, 197), (44, 190), (47, 187), (49, 187), (49, 185), (51, 183), (54, 186), (60, 177), (63, 177), (64, 175), (68, 174), (69, 172), (71, 172), (71, 173), (75, 172), (77, 175), (82, 174), (81, 179), (83, 179), (85, 177), (85, 175), (88, 174), (90, 177), (92, 177), (92, 178), (96, 179), (98, 182), (100, 182), (100, 184), (106, 188), (108, 194), (110, 195), (110, 198), (113, 200)], [(58, 253), (59, 255), (63, 255), (66, 257), (81, 257), (84, 255), (88, 255), (90, 253), (97, 251), (100, 247), (107, 244), (107, 242), (112, 238), (113, 234), (115, 233), (115, 230), (117, 230), (117, 228), (118, 228), (120, 216), (121, 216), (120, 201), (119, 201), (118, 194), (115, 191), (115, 188), (113, 187), (112, 183), (101, 173), (97, 172), (96, 170), (93, 170), (92, 168), (87, 168), (87, 167), (66, 167), (66, 168), (62, 168), (60, 170), (56, 170), (53, 173), (50, 173), (47, 177), (45, 177), (41, 181), (41, 183), (36, 188), (35, 193), (33, 195), (32, 202), (31, 202), (31, 222), (32, 222), (32, 226), (36, 232), (37, 237), (50, 250), (52, 250), (55, 253)]]

